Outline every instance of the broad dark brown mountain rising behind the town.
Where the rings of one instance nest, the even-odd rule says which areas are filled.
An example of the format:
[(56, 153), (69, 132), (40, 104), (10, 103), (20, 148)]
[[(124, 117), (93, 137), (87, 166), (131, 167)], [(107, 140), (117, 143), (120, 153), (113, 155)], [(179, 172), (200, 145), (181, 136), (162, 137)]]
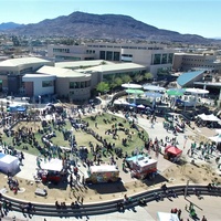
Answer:
[[(14, 24), (14, 23), (13, 23)], [(17, 24), (2, 29), (1, 32), (35, 36), (75, 36), (86, 39), (125, 39), (164, 42), (210, 43), (197, 34), (180, 34), (176, 31), (162, 30), (120, 14), (91, 14), (73, 12), (55, 19), (46, 19), (35, 24)]]

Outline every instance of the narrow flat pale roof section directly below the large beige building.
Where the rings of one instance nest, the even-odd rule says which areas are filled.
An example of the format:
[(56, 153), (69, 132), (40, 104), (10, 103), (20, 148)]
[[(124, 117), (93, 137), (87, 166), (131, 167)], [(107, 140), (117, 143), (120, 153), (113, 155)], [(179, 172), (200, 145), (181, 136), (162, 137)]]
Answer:
[(64, 69), (80, 69), (81, 66), (97, 66), (103, 62), (105, 64), (113, 64), (113, 62), (104, 61), (104, 60), (90, 60), (90, 61), (77, 61), (77, 62), (57, 62), (55, 63), (55, 67), (64, 67)]

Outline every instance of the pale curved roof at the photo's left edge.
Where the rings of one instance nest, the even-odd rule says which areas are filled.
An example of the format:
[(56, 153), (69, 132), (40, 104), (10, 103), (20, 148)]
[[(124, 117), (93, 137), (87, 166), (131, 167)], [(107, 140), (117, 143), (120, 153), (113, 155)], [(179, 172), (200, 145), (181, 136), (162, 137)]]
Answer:
[(20, 66), (23, 64), (34, 64), (34, 63), (51, 63), (48, 60), (39, 59), (39, 57), (19, 57), (19, 59), (9, 59), (0, 62), (0, 66)]

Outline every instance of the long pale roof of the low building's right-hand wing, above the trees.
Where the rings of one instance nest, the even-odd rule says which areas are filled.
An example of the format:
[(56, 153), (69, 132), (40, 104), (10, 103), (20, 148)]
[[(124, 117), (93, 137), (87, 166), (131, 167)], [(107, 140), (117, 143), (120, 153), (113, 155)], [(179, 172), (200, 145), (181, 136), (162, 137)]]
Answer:
[[(104, 64), (99, 66), (88, 67), (83, 70), (84, 72), (115, 72), (115, 71), (129, 71), (129, 70), (145, 70), (146, 66), (136, 63), (119, 63), (119, 64)], [(77, 70), (81, 71), (81, 70)]]

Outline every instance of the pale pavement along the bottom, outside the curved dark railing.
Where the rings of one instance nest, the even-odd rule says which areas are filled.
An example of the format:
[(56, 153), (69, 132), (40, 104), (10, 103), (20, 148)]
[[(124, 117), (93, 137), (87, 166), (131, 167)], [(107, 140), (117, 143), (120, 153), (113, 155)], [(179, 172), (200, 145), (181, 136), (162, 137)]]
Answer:
[(43, 217), (32, 217), (27, 218), (22, 213), (10, 211), (7, 218), (3, 218), (2, 221), (13, 220), (12, 217), (15, 215), (17, 221), (60, 221), (60, 220), (82, 220), (82, 221), (157, 221), (157, 212), (170, 212), (171, 209), (177, 208), (181, 209), (181, 218), (193, 220), (189, 217), (188, 211), (185, 210), (186, 204), (189, 207), (190, 201), (194, 204), (196, 213), (201, 220), (202, 215), (206, 215), (208, 221), (219, 221), (221, 217), (220, 203), (221, 198), (219, 197), (203, 197), (202, 200), (199, 200), (196, 196), (188, 197), (187, 200), (183, 197), (172, 199), (172, 201), (165, 199), (164, 201), (157, 202), (152, 201), (146, 207), (136, 207), (135, 210), (126, 210), (124, 213), (114, 212), (110, 214), (102, 214), (94, 217), (83, 217), (82, 219), (77, 218), (43, 218)]

